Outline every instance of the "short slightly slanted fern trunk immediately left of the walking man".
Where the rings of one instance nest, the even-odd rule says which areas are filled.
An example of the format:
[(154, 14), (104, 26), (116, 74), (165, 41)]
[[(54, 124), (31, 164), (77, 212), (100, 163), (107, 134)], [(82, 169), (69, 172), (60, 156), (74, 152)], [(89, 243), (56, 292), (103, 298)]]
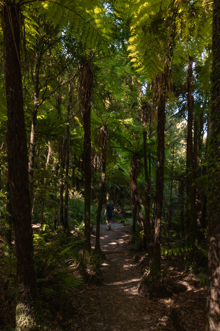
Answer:
[(106, 143), (109, 136), (109, 130), (107, 126), (102, 126), (100, 129), (100, 141), (101, 141), (101, 160), (102, 160), (102, 174), (101, 182), (99, 188), (99, 204), (97, 209), (97, 218), (96, 218), (96, 241), (95, 241), (95, 251), (100, 252), (100, 217), (102, 212), (103, 197), (105, 190), (105, 178), (106, 178)]

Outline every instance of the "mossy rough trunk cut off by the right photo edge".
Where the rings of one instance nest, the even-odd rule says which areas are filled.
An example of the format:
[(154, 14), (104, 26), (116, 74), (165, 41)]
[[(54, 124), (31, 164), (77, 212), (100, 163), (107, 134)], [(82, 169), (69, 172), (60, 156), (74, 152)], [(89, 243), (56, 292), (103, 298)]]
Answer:
[(207, 150), (208, 295), (206, 331), (220, 330), (220, 1), (213, 3), (210, 136)]

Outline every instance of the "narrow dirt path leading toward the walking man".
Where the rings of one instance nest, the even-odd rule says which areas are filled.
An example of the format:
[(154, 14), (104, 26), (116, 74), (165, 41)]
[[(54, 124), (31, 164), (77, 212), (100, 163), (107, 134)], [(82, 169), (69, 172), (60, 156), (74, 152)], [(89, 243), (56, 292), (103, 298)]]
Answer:
[[(169, 299), (146, 299), (138, 294), (141, 271), (128, 253), (129, 228), (101, 225), (100, 244), (106, 253), (103, 283), (85, 284), (76, 293), (76, 331), (173, 331)], [(94, 243), (94, 237), (92, 242)]]

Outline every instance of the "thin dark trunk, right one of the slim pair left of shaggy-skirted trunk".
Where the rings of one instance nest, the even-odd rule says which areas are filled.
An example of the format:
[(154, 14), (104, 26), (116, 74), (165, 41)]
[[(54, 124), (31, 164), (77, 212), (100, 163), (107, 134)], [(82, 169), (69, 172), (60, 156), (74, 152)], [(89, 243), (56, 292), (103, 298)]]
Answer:
[(69, 229), (68, 222), (68, 202), (69, 202), (69, 165), (70, 165), (70, 104), (67, 109), (67, 127), (66, 127), (66, 171), (65, 171), (65, 206), (64, 206), (64, 225)]

